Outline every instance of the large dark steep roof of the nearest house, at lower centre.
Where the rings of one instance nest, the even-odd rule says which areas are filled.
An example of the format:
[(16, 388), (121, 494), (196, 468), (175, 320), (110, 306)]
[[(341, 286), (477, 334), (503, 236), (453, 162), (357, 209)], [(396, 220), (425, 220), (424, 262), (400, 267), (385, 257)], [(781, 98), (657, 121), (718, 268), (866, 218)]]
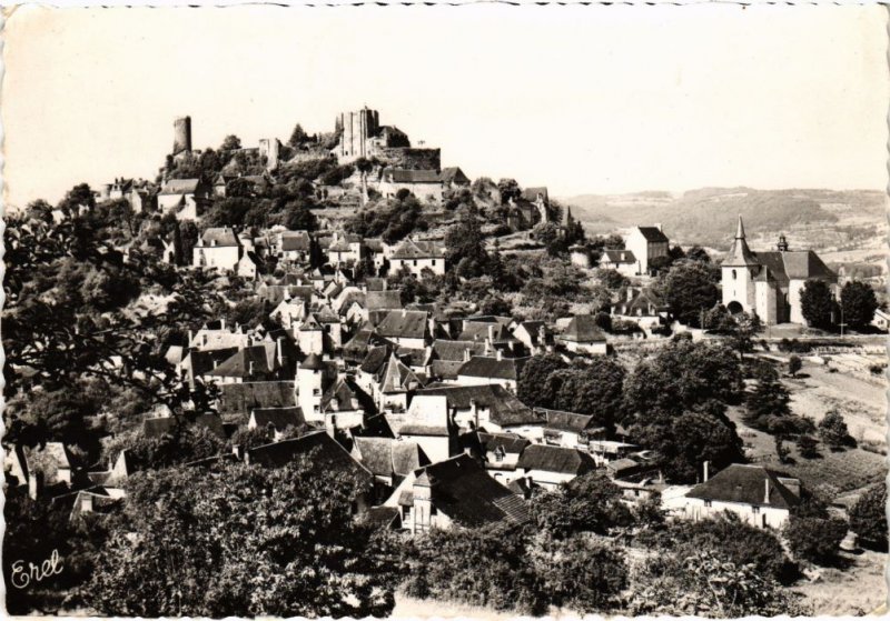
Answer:
[(467, 454), (427, 465), (415, 475), (415, 485), (428, 482), (433, 505), (461, 525), (530, 519), (525, 503)]

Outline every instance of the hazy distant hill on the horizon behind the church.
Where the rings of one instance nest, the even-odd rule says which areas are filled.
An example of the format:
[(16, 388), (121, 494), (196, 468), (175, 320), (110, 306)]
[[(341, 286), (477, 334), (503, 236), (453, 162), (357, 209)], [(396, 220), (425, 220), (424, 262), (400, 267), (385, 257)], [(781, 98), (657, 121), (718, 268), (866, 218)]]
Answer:
[(783, 232), (799, 248), (839, 250), (886, 234), (884, 199), (872, 190), (702, 188), (681, 196), (650, 191), (560, 200), (591, 233), (661, 223), (672, 241), (725, 249), (741, 214), (755, 242), (772, 244)]

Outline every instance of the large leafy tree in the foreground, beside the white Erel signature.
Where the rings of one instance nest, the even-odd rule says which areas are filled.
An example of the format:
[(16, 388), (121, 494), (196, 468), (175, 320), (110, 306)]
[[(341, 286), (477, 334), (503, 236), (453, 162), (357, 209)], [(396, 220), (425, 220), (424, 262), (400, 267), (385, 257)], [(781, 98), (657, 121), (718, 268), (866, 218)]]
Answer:
[(134, 617), (388, 614), (394, 567), (352, 515), (369, 483), (314, 457), (131, 477), (87, 603)]

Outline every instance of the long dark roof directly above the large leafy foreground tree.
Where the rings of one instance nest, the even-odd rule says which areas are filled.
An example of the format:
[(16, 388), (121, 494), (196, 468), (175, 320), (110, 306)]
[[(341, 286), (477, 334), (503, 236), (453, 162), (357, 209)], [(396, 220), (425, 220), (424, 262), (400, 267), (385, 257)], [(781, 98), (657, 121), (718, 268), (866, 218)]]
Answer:
[(337, 469), (367, 482), (373, 481), (370, 471), (353, 459), (346, 449), (325, 431), (314, 431), (293, 440), (273, 442), (247, 451), (249, 463), (259, 463), (268, 468), (280, 468), (295, 461), (299, 455), (310, 454), (313, 467), (319, 471)]

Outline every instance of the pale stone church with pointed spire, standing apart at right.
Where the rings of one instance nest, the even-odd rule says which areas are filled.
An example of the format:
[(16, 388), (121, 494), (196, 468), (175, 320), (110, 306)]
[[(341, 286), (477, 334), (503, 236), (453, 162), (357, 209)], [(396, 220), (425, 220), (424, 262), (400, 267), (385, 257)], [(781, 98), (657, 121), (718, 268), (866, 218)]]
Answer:
[(812, 250), (789, 250), (784, 236), (779, 237), (775, 250), (752, 252), (741, 216), (721, 269), (726, 310), (756, 313), (767, 325), (805, 323), (800, 292), (808, 280), (825, 281), (837, 294), (838, 274)]

